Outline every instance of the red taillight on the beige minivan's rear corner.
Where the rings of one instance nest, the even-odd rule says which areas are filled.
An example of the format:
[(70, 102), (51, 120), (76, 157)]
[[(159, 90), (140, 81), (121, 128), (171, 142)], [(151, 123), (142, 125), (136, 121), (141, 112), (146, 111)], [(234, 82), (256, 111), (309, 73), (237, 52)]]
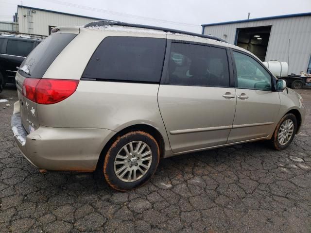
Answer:
[(78, 84), (79, 80), (26, 78), (22, 94), (36, 103), (58, 103), (71, 96)]

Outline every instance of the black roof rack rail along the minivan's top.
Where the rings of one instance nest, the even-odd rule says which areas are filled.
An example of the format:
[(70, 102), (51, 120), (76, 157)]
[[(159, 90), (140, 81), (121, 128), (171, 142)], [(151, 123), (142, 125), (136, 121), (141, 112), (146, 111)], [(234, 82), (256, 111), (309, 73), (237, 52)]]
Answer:
[(111, 21), (111, 20), (101, 20), (101, 21), (95, 21), (86, 24), (84, 27), (89, 28), (89, 27), (101, 27), (101, 26), (110, 26), (110, 25), (118, 25), (118, 26), (126, 26), (126, 27), (134, 27), (134, 28), (145, 28), (145, 29), (154, 29), (154, 30), (160, 30), (164, 32), (170, 32), (170, 33), (181, 33), (181, 34), (187, 34), (187, 35), (193, 35), (193, 36), (199, 36), (203, 38), (208, 38), (212, 40), (218, 40), (221, 42), (228, 43), (226, 40), (219, 38), (217, 36), (213, 35), (203, 35), (199, 33), (190, 33), (186, 31), (181, 31), (181, 30), (176, 30), (176, 29), (170, 29), (170, 28), (162, 28), (162, 27), (154, 27), (154, 26), (148, 26), (148, 25), (143, 25), (143, 24), (134, 24), (134, 23), (124, 23), (120, 21)]

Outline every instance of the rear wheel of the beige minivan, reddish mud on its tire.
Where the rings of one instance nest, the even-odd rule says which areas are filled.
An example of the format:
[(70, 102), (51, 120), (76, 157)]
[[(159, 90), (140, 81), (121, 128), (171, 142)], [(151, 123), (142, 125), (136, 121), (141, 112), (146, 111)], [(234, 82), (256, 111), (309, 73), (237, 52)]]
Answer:
[(134, 131), (112, 143), (101, 169), (112, 188), (126, 191), (145, 184), (155, 173), (159, 158), (160, 150), (155, 138), (149, 133)]

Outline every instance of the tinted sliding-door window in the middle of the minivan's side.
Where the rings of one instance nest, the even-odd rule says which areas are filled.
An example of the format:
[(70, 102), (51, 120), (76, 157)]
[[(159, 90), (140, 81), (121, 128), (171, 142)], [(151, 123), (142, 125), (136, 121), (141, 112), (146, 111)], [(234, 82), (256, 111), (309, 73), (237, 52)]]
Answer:
[(172, 43), (164, 83), (229, 86), (226, 50), (204, 45)]

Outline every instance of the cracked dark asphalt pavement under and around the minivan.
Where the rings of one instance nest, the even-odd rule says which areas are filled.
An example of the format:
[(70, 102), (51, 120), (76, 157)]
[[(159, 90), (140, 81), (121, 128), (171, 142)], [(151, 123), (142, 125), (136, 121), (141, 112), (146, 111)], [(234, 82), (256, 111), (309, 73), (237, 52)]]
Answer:
[(92, 173), (41, 174), (0, 99), (0, 232), (311, 232), (311, 89), (302, 132), (283, 151), (256, 142), (160, 161), (152, 180), (117, 192)]

